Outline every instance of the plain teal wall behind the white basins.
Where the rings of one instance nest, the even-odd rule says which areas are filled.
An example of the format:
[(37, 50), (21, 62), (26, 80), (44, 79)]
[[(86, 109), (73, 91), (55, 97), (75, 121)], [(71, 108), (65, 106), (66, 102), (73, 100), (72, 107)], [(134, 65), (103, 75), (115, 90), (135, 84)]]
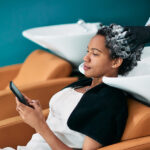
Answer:
[(150, 0), (0, 0), (0, 66), (22, 63), (40, 46), (22, 36), (25, 29), (86, 22), (144, 25)]

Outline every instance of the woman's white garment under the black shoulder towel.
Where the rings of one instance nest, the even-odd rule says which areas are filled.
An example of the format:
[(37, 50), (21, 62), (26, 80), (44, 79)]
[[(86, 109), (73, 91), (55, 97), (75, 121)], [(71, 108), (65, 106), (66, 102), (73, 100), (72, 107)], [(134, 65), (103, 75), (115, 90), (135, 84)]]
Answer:
[[(71, 148), (82, 149), (85, 135), (69, 129), (67, 120), (78, 104), (83, 93), (75, 91), (73, 88), (65, 88), (56, 93), (50, 100), (50, 113), (47, 124), (53, 133), (66, 145)], [(14, 150), (7, 147), (3, 150)], [(17, 146), (17, 150), (51, 150), (40, 134), (33, 134), (26, 146)]]

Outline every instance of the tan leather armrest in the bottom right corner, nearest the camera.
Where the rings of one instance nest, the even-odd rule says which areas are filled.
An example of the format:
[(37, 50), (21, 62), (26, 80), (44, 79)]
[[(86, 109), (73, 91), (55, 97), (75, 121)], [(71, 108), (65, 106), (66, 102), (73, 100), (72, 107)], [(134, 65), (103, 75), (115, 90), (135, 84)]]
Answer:
[(149, 150), (150, 136), (122, 141), (98, 150)]

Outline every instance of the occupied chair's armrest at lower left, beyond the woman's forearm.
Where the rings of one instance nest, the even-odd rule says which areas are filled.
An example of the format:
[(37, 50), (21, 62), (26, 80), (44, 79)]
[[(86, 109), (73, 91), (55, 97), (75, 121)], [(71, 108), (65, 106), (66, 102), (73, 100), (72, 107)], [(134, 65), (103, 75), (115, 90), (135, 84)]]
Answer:
[[(49, 109), (43, 110), (45, 117), (48, 116)], [(25, 124), (20, 116), (15, 116), (0, 121), (0, 148), (26, 145), (31, 139), (35, 130)]]

